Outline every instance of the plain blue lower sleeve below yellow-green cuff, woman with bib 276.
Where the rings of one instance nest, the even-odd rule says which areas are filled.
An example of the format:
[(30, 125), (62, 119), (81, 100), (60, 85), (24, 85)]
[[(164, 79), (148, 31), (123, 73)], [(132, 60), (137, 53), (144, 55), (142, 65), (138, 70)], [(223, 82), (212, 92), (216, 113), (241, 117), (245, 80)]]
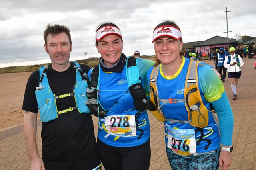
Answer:
[(221, 143), (230, 146), (232, 145), (234, 117), (226, 92), (222, 93), (221, 98), (211, 102), (211, 104), (218, 116)]

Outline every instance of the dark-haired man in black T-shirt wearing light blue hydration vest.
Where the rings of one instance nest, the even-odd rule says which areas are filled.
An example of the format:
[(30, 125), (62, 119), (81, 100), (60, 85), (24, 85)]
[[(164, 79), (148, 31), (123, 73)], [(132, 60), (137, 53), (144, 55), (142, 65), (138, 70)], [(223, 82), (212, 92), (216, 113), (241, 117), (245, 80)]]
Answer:
[[(76, 90), (79, 88), (77, 75), (80, 76), (80, 74), (76, 73), (79, 67), (69, 61), (72, 51), (70, 30), (65, 25), (48, 24), (44, 31), (44, 41), (45, 51), (52, 63), (44, 70), (44, 74), (41, 74), (42, 81), (39, 70), (30, 75), (22, 106), (25, 110), (24, 136), (30, 168), (33, 170), (98, 170), (101, 165), (92, 117), (90, 113), (81, 111), (81, 106), (77, 107), (79, 102), (79, 96), (76, 95)], [(78, 65), (82, 73), (88, 73), (90, 70), (90, 67), (85, 64)], [(48, 82), (48, 86), (40, 86), (42, 82), (44, 85)], [(85, 92), (82, 88), (83, 90)], [(40, 106), (42, 101), (46, 102), (43, 107)], [(84, 106), (86, 107), (85, 104)], [(38, 110), (43, 121), (42, 159), (36, 147)], [(53, 115), (54, 118), (44, 119), (44, 115)]]

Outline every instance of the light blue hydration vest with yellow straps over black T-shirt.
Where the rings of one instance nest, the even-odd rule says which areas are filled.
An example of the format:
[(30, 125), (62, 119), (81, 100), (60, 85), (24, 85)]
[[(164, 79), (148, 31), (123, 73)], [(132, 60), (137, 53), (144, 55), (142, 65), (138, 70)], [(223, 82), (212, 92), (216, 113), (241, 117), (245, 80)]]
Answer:
[[(48, 78), (46, 75), (47, 67), (45, 68), (44, 66), (41, 66), (41, 68), (39, 69), (40, 82), (39, 86), (36, 87), (36, 100), (38, 103), (40, 119), (42, 122), (51, 121), (53, 119), (58, 118), (59, 114), (67, 113), (68, 111), (76, 109), (79, 111), (79, 113), (90, 113), (90, 109), (85, 104), (85, 101), (88, 100), (85, 91), (85, 89), (87, 88), (87, 82), (86, 80), (83, 80), (82, 75), (79, 72), (79, 70), (81, 70), (80, 65), (75, 61), (74, 63), (76, 64), (77, 68), (76, 84), (73, 93), (62, 94), (58, 96), (53, 94), (49, 86)], [(62, 111), (58, 111), (56, 100), (70, 96), (74, 96), (76, 106), (69, 107), (68, 109)]]

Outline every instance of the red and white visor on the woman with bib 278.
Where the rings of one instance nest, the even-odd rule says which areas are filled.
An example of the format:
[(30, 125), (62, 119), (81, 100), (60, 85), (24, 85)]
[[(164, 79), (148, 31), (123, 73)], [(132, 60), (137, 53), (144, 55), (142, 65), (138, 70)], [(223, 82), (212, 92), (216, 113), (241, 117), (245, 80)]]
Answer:
[(112, 25), (107, 25), (107, 26), (99, 28), (96, 31), (95, 39), (96, 39), (96, 41), (100, 41), (102, 38), (104, 38), (110, 34), (116, 34), (117, 36), (122, 38), (122, 33), (121, 33), (120, 29), (118, 29), (118, 27), (114, 27)]

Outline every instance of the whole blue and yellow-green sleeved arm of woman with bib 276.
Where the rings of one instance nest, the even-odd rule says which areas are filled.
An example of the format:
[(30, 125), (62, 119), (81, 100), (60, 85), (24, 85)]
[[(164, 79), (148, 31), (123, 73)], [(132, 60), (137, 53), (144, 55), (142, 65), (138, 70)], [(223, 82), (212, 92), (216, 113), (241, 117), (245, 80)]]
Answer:
[(212, 104), (217, 113), (221, 143), (229, 146), (232, 144), (234, 118), (224, 86), (208, 66), (198, 66), (198, 81), (204, 98)]

